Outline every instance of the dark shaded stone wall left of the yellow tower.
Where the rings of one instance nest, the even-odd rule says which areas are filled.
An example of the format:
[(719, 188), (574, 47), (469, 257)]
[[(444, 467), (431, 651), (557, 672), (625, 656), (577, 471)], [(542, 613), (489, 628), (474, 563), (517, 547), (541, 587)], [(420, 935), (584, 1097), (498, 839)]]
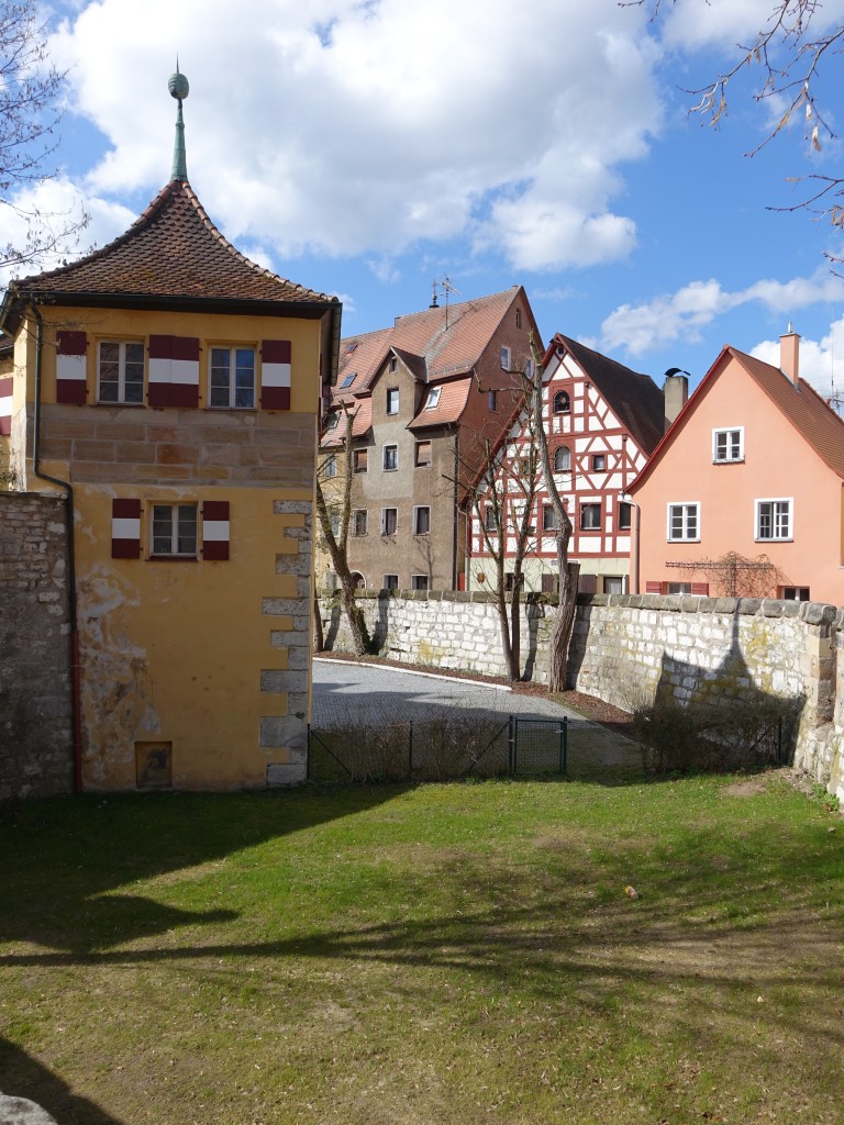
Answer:
[(65, 501), (0, 493), (0, 801), (72, 788)]

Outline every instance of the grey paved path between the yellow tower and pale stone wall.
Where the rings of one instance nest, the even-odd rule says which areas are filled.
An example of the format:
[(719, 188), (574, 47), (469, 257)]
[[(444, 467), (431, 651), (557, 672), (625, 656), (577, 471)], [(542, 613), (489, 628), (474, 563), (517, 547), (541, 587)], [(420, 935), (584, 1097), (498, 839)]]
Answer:
[(582, 765), (630, 770), (640, 764), (638, 746), (630, 739), (541, 696), (405, 668), (314, 660), (315, 730), (422, 722), (443, 712), (477, 716), (478, 721), (500, 717), (502, 722), (511, 714), (520, 719), (566, 717), (569, 747)]

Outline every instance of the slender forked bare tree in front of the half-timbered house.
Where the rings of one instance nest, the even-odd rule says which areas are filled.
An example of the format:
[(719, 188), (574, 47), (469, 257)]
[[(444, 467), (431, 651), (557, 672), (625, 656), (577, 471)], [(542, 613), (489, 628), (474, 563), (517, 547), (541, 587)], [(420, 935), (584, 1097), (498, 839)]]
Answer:
[[(536, 533), (532, 520), (538, 485), (539, 460), (531, 433), (527, 447), (522, 444), (518, 449), (508, 438), (494, 452), (487, 441), (483, 468), (469, 489), (469, 500), (495, 572), (494, 604), (511, 680), (521, 678), (521, 592), (524, 559)], [(511, 540), (514, 541), (512, 551), (509, 549)], [(508, 562), (513, 567), (509, 603)]]

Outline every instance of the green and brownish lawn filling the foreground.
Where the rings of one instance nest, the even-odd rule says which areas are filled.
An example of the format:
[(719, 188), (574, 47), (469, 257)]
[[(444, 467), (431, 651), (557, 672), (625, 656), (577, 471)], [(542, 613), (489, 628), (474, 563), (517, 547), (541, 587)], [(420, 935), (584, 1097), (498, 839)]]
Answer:
[(55, 800), (0, 864), (61, 1125), (844, 1120), (844, 822), (775, 774)]

